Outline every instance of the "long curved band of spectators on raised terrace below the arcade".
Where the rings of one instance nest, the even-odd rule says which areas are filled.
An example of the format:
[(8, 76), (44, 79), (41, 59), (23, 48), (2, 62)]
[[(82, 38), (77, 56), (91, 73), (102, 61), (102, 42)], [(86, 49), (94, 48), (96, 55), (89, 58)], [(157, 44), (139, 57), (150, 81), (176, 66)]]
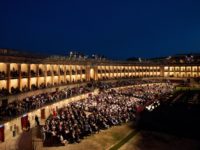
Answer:
[[(55, 92), (46, 92), (39, 95), (33, 95), (31, 97), (24, 98), (23, 100), (15, 100), (12, 103), (9, 103), (7, 106), (0, 106), (0, 120), (7, 120), (9, 118), (14, 118), (19, 115), (22, 115), (31, 110), (40, 108), (44, 105), (69, 98), (77, 94), (83, 94), (89, 91), (92, 91), (95, 88), (101, 90), (106, 90), (114, 87), (132, 85), (132, 84), (142, 84), (142, 83), (151, 83), (155, 81), (141, 81), (141, 80), (127, 80), (127, 81), (117, 81), (117, 82), (90, 82), (86, 86), (66, 88), (63, 90), (57, 90)], [(27, 87), (23, 88), (27, 91)], [(12, 88), (12, 92), (18, 91), (17, 89)], [(1, 93), (7, 93), (6, 89), (2, 89)]]

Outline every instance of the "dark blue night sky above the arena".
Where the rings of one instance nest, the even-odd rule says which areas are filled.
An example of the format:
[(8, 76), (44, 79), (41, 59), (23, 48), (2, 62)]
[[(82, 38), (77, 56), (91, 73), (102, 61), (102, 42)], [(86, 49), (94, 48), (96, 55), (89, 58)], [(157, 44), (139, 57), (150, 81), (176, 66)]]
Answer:
[(200, 52), (200, 1), (0, 0), (0, 48), (114, 59)]

